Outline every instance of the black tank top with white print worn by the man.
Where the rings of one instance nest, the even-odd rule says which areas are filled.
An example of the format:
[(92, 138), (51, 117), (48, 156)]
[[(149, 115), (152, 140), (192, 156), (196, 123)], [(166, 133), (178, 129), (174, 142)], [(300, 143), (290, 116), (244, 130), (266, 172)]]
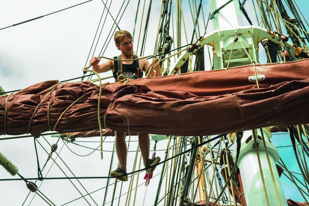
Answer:
[[(137, 59), (138, 57), (133, 55), (133, 59)], [(114, 56), (114, 59), (121, 60), (120, 56)], [(120, 74), (124, 75), (126, 78), (130, 79), (139, 79), (143, 77), (142, 69), (139, 68), (138, 60), (134, 60), (132, 64), (122, 64), (122, 61), (114, 61), (115, 71), (113, 72), (113, 77), (115, 81)]]

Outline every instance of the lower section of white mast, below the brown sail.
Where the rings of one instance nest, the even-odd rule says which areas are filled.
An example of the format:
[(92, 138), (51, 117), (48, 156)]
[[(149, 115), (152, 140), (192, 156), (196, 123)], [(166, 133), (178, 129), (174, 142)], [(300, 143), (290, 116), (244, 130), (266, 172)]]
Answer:
[[(272, 136), (270, 128), (263, 128), (262, 131), (263, 135), (261, 134), (260, 129), (244, 131), (243, 138), (241, 140), (237, 166), (239, 167), (247, 206), (287, 205), (275, 164), (275, 162), (280, 158), (278, 150), (271, 142), (269, 142), (269, 139)], [(254, 136), (256, 137), (256, 143)], [(264, 137), (265, 140), (266, 150), (262, 137)], [(231, 133), (230, 139), (235, 141), (236, 134)], [(256, 152), (256, 145), (258, 147), (259, 155), (257, 155)], [(267, 155), (269, 157), (269, 162)], [(235, 161), (236, 150), (234, 150), (232, 156)], [(259, 166), (259, 159), (261, 170)], [(262, 181), (261, 174), (263, 174), (264, 183)]]

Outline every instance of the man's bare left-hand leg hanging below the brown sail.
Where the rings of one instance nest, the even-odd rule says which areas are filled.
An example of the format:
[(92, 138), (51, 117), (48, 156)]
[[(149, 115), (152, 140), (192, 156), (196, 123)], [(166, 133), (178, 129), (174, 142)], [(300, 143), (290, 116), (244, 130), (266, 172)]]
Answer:
[(115, 146), (120, 168), (127, 172), (127, 144), (124, 132), (115, 131)]

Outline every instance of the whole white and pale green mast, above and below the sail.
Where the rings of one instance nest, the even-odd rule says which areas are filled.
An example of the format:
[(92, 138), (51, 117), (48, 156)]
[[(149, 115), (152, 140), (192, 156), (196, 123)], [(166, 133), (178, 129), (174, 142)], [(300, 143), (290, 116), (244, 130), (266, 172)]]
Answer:
[[(226, 68), (231, 64), (241, 66), (257, 63), (258, 42), (253, 39), (253, 34), (250, 39), (243, 38), (237, 33), (239, 27), (244, 28), (239, 1), (210, 0), (210, 13), (214, 30), (220, 31), (218, 34), (221, 34), (221, 40), (215, 43), (218, 47), (214, 46), (214, 69)], [(232, 29), (227, 30), (227, 28)], [(248, 26), (248, 32), (250, 28), (252, 27)], [(223, 35), (225, 38), (222, 41)], [(251, 59), (246, 59), (245, 49), (251, 55)], [(233, 54), (232, 51), (235, 50)], [(279, 160), (279, 154), (276, 147), (269, 141), (271, 136), (269, 128), (244, 131), (237, 165), (248, 206), (287, 205), (275, 164)], [(232, 133), (230, 138), (235, 141), (235, 133)], [(235, 161), (236, 150), (232, 155)]]

